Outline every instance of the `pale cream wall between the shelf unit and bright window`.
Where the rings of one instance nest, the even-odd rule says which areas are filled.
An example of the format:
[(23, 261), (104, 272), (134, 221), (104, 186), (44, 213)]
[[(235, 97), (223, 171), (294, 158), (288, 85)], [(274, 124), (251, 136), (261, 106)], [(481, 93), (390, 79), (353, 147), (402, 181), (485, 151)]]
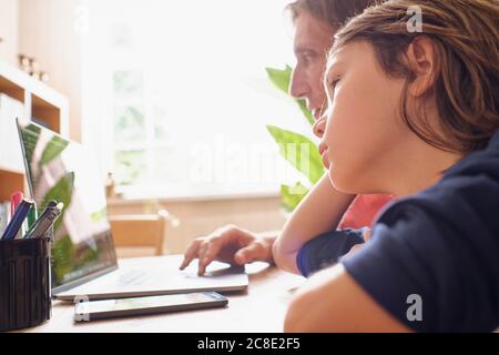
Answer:
[[(0, 0), (8, 1), (11, 0)], [(79, 0), (18, 0), (19, 52), (35, 57), (50, 87), (70, 101), (70, 136), (81, 141), (81, 37)]]

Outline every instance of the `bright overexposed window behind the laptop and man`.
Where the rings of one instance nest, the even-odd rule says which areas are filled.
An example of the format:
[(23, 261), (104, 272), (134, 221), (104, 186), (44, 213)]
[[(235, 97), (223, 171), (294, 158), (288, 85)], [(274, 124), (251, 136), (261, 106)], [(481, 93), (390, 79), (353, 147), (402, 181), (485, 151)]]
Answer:
[(265, 67), (293, 62), (289, 0), (89, 2), (83, 140), (129, 196), (277, 193), (266, 124), (307, 133)]

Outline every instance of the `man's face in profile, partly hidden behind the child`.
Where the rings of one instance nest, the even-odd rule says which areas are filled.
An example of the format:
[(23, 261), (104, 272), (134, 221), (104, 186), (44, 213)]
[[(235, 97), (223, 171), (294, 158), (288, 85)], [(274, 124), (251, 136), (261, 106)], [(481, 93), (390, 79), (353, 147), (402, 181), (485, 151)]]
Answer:
[(326, 105), (322, 80), (326, 54), (333, 45), (334, 30), (306, 11), (298, 14), (294, 24), (294, 51), (297, 63), (293, 71), (289, 93), (294, 98), (305, 99), (308, 110), (317, 120)]

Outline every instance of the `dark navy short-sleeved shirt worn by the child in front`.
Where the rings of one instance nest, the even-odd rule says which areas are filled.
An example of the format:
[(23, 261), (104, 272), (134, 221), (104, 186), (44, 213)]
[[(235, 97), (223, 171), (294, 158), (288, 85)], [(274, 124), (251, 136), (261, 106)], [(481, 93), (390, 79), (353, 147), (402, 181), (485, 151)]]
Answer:
[[(306, 256), (298, 253), (298, 264), (323, 248), (317, 243)], [(495, 331), (499, 132), (486, 150), (461, 160), (434, 186), (391, 203), (369, 242), (340, 262), (379, 305), (414, 331)]]

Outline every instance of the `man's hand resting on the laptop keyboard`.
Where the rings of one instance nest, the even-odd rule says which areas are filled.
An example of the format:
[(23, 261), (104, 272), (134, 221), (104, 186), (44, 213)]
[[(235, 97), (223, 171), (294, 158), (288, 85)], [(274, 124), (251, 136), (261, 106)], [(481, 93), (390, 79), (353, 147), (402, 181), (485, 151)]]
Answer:
[(213, 261), (244, 265), (254, 261), (274, 263), (272, 246), (277, 233), (272, 236), (258, 236), (235, 225), (226, 225), (208, 236), (194, 240), (187, 247), (181, 270), (198, 258), (198, 275)]

